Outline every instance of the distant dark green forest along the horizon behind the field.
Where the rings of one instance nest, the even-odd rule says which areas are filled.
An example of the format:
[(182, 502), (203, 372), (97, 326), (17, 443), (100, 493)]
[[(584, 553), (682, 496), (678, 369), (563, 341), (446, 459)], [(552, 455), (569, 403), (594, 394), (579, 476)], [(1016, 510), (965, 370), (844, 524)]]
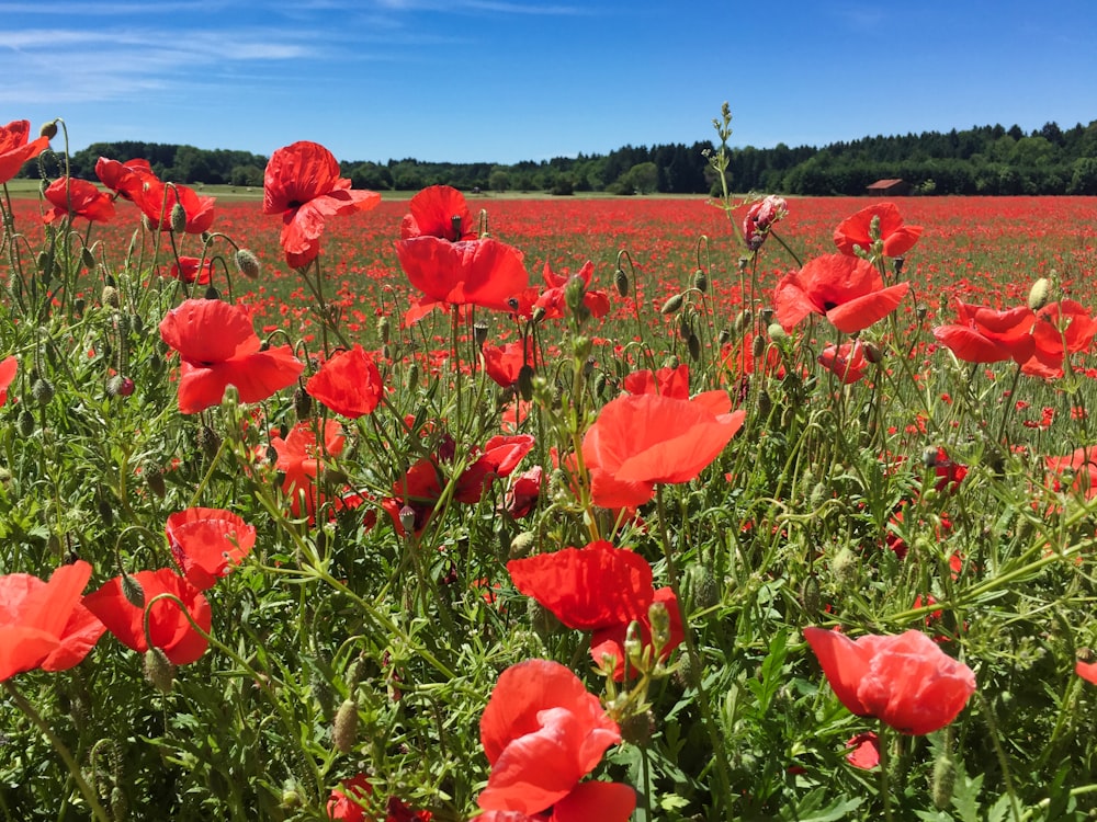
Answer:
[[(709, 194), (719, 186), (709, 164), (711, 142), (625, 146), (608, 155), (498, 163), (342, 162), (358, 189), (415, 191), (437, 183), (472, 191), (611, 194)], [(1063, 130), (1055, 123), (1025, 134), (1018, 126), (981, 126), (947, 134), (923, 132), (864, 137), (823, 148), (728, 148), (736, 192), (863, 194), (884, 179), (905, 181), (914, 194), (1097, 194), (1097, 121)], [(99, 157), (142, 157), (162, 180), (261, 186), (267, 158), (155, 142), (99, 142), (71, 158), (73, 176), (95, 179)], [(34, 164), (23, 173), (34, 176)]]

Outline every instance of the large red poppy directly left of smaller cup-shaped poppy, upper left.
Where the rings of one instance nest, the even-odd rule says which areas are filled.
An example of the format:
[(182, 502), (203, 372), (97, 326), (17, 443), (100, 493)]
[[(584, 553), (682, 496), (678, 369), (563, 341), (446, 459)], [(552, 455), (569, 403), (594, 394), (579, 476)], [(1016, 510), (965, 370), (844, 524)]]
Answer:
[(236, 386), (240, 400), (259, 402), (293, 385), (304, 365), (289, 345), (262, 351), (245, 306), (188, 299), (168, 311), (160, 338), (179, 352), (179, 410), (184, 414), (220, 403)]

